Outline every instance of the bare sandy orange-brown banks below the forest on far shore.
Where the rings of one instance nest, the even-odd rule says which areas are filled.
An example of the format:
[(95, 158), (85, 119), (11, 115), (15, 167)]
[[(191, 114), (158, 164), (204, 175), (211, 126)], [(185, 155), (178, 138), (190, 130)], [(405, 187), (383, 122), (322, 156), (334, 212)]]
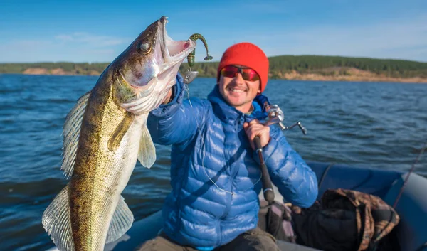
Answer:
[[(342, 69), (338, 69), (333, 75), (322, 75), (320, 73), (298, 73), (292, 70), (283, 74), (270, 74), (270, 79), (279, 80), (310, 80), (310, 81), (347, 81), (347, 82), (401, 82), (401, 83), (420, 83), (427, 84), (427, 78), (393, 78), (386, 75), (378, 75), (365, 70), (359, 70), (356, 68), (347, 68), (344, 73)], [(28, 68), (21, 73), (23, 75), (93, 75), (99, 76), (100, 73), (96, 70), (92, 70), (86, 74), (78, 74), (67, 72), (61, 68), (47, 69), (47, 68)], [(199, 75), (200, 77), (212, 78), (212, 76)]]

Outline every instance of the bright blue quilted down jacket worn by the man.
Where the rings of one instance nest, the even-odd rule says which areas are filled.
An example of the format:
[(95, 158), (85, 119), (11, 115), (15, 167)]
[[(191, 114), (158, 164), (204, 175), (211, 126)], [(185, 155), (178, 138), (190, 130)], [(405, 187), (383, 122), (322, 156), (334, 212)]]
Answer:
[[(184, 100), (177, 76), (174, 99), (149, 114), (154, 143), (172, 144), (171, 185), (164, 208), (164, 233), (181, 245), (200, 250), (231, 242), (256, 228), (258, 193), (262, 188), (259, 159), (243, 130), (243, 122), (264, 119), (267, 100), (253, 102), (255, 112), (243, 114), (223, 100), (218, 85), (207, 100)], [(315, 173), (293, 151), (277, 125), (263, 149), (270, 178), (282, 196), (301, 207), (317, 197)]]

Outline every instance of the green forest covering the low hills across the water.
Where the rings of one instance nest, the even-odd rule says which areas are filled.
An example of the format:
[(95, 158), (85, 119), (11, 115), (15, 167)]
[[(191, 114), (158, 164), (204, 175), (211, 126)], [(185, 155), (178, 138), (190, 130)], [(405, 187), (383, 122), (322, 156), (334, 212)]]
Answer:
[[(392, 78), (427, 78), (427, 63), (410, 60), (391, 60), (376, 58), (349, 58), (319, 55), (280, 55), (270, 57), (270, 78), (281, 78), (284, 73), (315, 73), (318, 75), (346, 75), (346, 69), (355, 68)], [(61, 68), (75, 75), (94, 75), (102, 73), (109, 63), (1, 63), (0, 73), (23, 73), (29, 68), (53, 70)], [(199, 71), (200, 77), (215, 77), (218, 61), (196, 62), (192, 70)], [(181, 65), (181, 73), (188, 68)], [(337, 71), (338, 70), (338, 71)]]

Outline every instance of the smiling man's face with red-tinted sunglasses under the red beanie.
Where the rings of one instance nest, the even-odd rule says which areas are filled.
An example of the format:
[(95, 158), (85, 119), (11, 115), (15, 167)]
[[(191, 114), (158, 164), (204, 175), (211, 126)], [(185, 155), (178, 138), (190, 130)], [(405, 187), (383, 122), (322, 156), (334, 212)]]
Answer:
[(253, 99), (260, 93), (258, 74), (255, 70), (241, 65), (228, 65), (223, 68), (218, 85), (224, 100), (241, 112), (248, 112)]

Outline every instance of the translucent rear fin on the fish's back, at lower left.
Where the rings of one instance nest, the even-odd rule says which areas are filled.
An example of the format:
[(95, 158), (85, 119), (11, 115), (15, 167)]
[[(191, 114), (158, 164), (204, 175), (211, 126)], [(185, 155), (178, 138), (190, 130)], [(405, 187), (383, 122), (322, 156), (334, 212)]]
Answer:
[(41, 218), (41, 223), (58, 250), (74, 250), (68, 186), (65, 186), (48, 205)]

